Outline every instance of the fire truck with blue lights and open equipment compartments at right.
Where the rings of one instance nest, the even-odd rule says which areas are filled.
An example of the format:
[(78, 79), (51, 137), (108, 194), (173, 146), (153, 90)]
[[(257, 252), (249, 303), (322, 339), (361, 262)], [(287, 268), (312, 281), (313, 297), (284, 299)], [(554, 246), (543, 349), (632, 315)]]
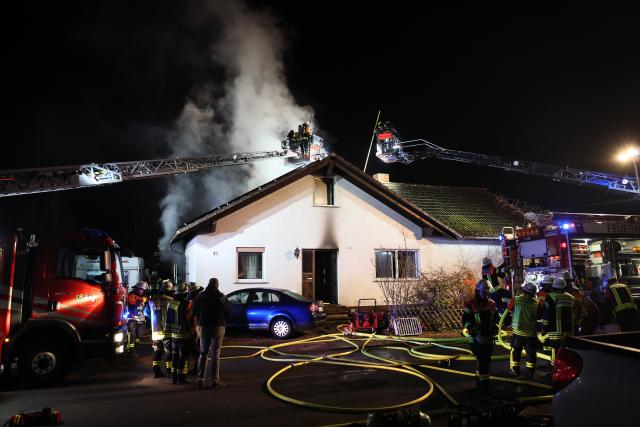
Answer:
[(616, 276), (640, 300), (640, 216), (550, 212), (538, 224), (505, 227), (501, 240), (515, 287), (569, 272), (598, 294)]

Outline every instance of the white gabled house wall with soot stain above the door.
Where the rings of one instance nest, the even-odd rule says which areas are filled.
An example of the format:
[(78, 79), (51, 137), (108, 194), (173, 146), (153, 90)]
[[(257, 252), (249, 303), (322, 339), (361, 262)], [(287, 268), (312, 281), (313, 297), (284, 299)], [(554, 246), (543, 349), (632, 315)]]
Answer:
[[(187, 243), (187, 280), (206, 285), (220, 279), (229, 293), (247, 287), (275, 287), (302, 293), (302, 249), (338, 249), (338, 301), (382, 296), (375, 281), (375, 249), (418, 249), (421, 269), (451, 268), (461, 258), (480, 272), (481, 260), (499, 251), (498, 242), (421, 238), (422, 229), (340, 177), (335, 207), (313, 206), (313, 178), (307, 176), (246, 206), (216, 224), (215, 233)], [(264, 247), (264, 281), (238, 283), (237, 247)]]

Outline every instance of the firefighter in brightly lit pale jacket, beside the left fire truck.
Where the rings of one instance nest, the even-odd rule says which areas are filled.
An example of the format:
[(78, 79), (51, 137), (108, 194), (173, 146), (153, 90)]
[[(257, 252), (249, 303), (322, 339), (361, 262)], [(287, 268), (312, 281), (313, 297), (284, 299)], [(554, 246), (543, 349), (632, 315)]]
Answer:
[[(173, 300), (173, 282), (162, 281), (160, 292), (149, 300), (151, 314), (151, 345), (153, 346), (153, 374), (155, 378), (171, 376), (171, 333), (164, 333), (164, 320), (167, 315), (169, 301)], [(167, 373), (162, 373), (162, 356), (167, 354)]]

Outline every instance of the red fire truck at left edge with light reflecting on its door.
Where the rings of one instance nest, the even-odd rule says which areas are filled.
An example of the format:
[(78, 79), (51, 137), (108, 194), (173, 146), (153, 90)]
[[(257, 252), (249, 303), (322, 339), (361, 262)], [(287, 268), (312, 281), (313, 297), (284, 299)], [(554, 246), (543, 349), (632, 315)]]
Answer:
[(82, 359), (123, 353), (122, 271), (118, 245), (99, 230), (0, 241), (0, 369), (17, 362), (21, 378), (46, 385)]

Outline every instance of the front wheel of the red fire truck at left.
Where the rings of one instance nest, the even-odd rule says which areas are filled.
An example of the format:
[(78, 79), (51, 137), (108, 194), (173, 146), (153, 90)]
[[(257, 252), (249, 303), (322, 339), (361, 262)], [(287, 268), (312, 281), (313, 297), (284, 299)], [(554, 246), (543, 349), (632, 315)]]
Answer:
[(54, 341), (27, 344), (18, 357), (20, 377), (32, 385), (52, 385), (60, 382), (69, 368), (69, 354)]

